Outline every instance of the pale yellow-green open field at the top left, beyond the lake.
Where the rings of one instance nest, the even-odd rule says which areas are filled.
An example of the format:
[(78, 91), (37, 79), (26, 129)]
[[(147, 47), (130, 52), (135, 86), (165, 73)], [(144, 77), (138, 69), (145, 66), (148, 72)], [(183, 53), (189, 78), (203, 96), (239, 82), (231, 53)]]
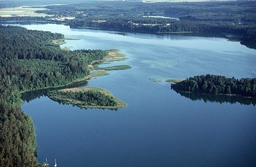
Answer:
[(0, 8), (0, 17), (12, 17), (12, 16), (52, 16), (47, 14), (38, 14), (38, 10), (48, 10), (44, 7), (30, 7), (30, 6), (19, 6), (19, 7), (10, 7), (10, 8)]

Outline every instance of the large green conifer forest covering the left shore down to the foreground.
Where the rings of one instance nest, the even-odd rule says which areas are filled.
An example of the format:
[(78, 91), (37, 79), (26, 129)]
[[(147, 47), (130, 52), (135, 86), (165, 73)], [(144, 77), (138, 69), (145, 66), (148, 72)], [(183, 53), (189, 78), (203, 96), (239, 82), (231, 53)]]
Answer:
[(20, 105), (20, 92), (58, 87), (89, 74), (87, 65), (105, 50), (65, 51), (59, 33), (0, 25), (0, 166), (37, 166), (33, 122)]

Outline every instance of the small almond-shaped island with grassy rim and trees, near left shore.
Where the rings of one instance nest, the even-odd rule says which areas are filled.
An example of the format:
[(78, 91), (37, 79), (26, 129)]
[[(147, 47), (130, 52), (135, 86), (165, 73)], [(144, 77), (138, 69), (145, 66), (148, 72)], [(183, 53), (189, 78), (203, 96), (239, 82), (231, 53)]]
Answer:
[(98, 87), (66, 88), (48, 93), (50, 99), (63, 104), (72, 104), (80, 108), (119, 109), (127, 104)]

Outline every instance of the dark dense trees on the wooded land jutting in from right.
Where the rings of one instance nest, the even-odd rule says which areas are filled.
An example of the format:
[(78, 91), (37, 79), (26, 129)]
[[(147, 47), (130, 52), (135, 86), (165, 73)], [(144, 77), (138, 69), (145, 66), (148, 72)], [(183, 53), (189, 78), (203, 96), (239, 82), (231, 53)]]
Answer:
[(171, 84), (175, 90), (256, 97), (256, 78), (226, 78), (221, 75), (200, 75)]

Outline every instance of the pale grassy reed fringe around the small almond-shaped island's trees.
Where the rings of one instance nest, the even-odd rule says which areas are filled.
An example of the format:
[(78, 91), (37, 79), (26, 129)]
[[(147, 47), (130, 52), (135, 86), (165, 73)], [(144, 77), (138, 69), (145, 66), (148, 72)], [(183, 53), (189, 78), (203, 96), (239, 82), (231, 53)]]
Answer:
[(65, 96), (56, 96), (56, 95), (49, 95), (49, 98), (51, 98), (52, 100), (58, 101), (58, 102), (62, 102), (63, 104), (72, 104), (72, 105), (76, 105), (80, 108), (98, 108), (98, 109), (119, 109), (119, 108), (125, 108), (127, 106), (127, 104), (121, 100), (119, 100), (117, 97), (115, 97), (111, 92), (106, 91), (105, 89), (102, 88), (98, 88), (98, 87), (77, 87), (77, 88), (66, 88), (66, 89), (60, 89), (59, 91), (61, 92), (88, 92), (88, 91), (92, 91), (92, 92), (100, 92), (102, 94), (104, 94), (105, 96), (109, 96), (111, 98), (113, 98), (113, 100), (116, 102), (117, 105), (114, 106), (104, 106), (104, 105), (84, 105), (84, 101), (80, 101), (77, 99), (72, 99), (69, 97), (65, 97)]

